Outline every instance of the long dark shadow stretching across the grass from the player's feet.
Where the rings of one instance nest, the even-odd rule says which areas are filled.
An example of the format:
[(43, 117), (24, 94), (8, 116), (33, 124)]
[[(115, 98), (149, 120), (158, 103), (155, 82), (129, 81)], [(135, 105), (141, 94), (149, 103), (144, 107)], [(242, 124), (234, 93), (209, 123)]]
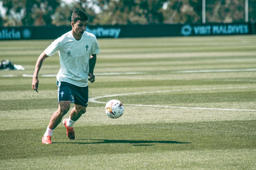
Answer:
[[(85, 142), (78, 142), (76, 140), (84, 140)], [(166, 143), (166, 144), (191, 143), (191, 142), (180, 142), (180, 141), (112, 140), (112, 139), (76, 139), (76, 140), (74, 140), (73, 142), (53, 142), (53, 143), (76, 143), (76, 144), (130, 143), (135, 146), (152, 146), (152, 144), (155, 144), (155, 143)]]

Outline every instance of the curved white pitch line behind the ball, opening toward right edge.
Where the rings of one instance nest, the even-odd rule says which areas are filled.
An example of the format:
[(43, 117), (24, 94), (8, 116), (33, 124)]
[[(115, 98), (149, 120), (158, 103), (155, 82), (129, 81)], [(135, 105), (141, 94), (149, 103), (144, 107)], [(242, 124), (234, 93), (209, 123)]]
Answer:
[[(220, 89), (235, 89), (235, 88), (254, 88), (254, 87), (226, 87), (226, 88), (198, 88), (193, 90), (163, 90), (155, 92), (137, 92), (137, 93), (121, 93), (121, 94), (112, 94), (93, 97), (89, 99), (89, 102), (106, 104), (107, 102), (100, 102), (96, 99), (106, 98), (106, 97), (116, 97), (124, 95), (138, 95), (138, 94), (147, 94), (147, 93), (164, 93), (164, 92), (182, 92), (182, 91), (199, 91), (199, 90), (220, 90)], [(183, 107), (183, 106), (165, 106), (165, 105), (144, 105), (144, 104), (124, 104), (124, 105), (135, 105), (135, 106), (144, 106), (144, 107), (164, 107), (164, 108), (177, 108), (177, 109), (199, 109), (199, 110), (228, 110), (228, 111), (249, 111), (255, 112), (255, 109), (229, 109), (229, 108), (206, 108), (206, 107)]]

